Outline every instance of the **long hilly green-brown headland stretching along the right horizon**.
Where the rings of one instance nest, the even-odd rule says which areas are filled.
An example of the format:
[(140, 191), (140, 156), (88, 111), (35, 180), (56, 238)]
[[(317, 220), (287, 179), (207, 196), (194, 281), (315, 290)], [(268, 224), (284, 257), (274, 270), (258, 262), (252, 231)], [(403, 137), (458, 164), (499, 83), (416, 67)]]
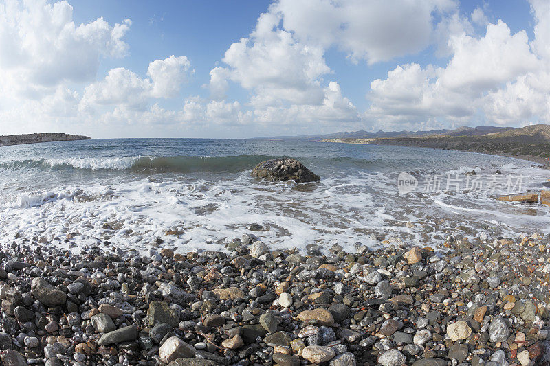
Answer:
[[(375, 144), (411, 146), (417, 148), (437, 148), (481, 152), (484, 154), (515, 157), (518, 159), (549, 165), (550, 126), (539, 124), (523, 128), (507, 129), (503, 132), (472, 133), (475, 128), (454, 130), (452, 133), (434, 133), (419, 137), (343, 137), (318, 139), (316, 142), (336, 142), (346, 144)], [(406, 133), (404, 133), (406, 135)]]

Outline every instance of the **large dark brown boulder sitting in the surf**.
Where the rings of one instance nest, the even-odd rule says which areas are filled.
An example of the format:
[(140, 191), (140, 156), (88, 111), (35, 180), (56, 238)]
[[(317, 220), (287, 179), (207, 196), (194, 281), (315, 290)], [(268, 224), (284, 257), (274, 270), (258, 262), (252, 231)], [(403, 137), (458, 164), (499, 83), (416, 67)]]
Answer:
[(320, 176), (307, 169), (296, 159), (282, 158), (262, 161), (252, 170), (252, 176), (267, 181), (295, 181), (296, 183), (314, 182)]

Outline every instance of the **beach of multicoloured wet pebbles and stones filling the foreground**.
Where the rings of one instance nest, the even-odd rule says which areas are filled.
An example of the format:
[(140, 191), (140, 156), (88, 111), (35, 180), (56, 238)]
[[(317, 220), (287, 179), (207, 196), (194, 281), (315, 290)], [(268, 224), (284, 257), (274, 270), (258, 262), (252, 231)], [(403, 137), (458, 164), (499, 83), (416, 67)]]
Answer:
[[(449, 235), (449, 234), (446, 234)], [(67, 236), (67, 242), (78, 240)], [(549, 365), (549, 238), (0, 251), (3, 365)], [(162, 244), (162, 243), (160, 243)]]

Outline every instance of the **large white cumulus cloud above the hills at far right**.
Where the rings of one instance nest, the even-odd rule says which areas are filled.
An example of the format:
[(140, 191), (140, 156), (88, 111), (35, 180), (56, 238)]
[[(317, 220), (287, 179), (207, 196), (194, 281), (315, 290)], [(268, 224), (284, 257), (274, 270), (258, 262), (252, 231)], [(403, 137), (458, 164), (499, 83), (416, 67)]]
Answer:
[(374, 80), (364, 117), (412, 128), (550, 121), (550, 58), (541, 42), (550, 8), (531, 5), (539, 30), (531, 45), (524, 30), (511, 34), (501, 20), (483, 36), (452, 36), (445, 67), (401, 65)]

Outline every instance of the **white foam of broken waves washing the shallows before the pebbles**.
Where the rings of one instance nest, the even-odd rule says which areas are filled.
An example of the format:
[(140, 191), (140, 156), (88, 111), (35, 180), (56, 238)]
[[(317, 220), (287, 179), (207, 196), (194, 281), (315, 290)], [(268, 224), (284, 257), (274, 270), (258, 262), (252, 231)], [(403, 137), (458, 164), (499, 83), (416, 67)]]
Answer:
[[(463, 233), (462, 226), (474, 230), (488, 226), (487, 232), (492, 236), (550, 227), (544, 207), (525, 210), (495, 201), (486, 193), (429, 194), (420, 190), (399, 195), (397, 172), (354, 168), (325, 174), (312, 185), (256, 181), (250, 179), (249, 172), (151, 174), (149, 181), (131, 170), (124, 172), (138, 159), (140, 156), (48, 160), (52, 167), (69, 165), (120, 172), (86, 172), (82, 183), (74, 185), (52, 183), (46, 190), (20, 189), (18, 185), (9, 196), (0, 192), (0, 236), (4, 242), (11, 242), (22, 240), (19, 237), (63, 239), (67, 233), (78, 233), (70, 248), (63, 240), (56, 242), (57, 246), (74, 251), (103, 240), (145, 251), (157, 247), (155, 239), (162, 238), (162, 245), (184, 252), (222, 249), (225, 242), (250, 233), (248, 225), (258, 222), (265, 231), (255, 234), (273, 249), (296, 247), (306, 251), (310, 244), (322, 249), (340, 244), (354, 251), (358, 244), (434, 245), (445, 240), (443, 235)], [(212, 161), (206, 155), (203, 159)], [(194, 163), (193, 159), (175, 158), (175, 162), (180, 160)], [(480, 165), (447, 170), (445, 174), (464, 174), (475, 169), (478, 176), (485, 176), (493, 174), (496, 167)], [(217, 165), (214, 168), (219, 171)], [(533, 189), (540, 189), (540, 182), (550, 178), (548, 170), (520, 162), (499, 169), (503, 176), (523, 174), (525, 186)], [(56, 171), (47, 174), (55, 174), (54, 179), (58, 179)], [(103, 175), (115, 178), (103, 179)], [(97, 178), (88, 181), (88, 176)], [(74, 182), (72, 179), (69, 176), (67, 181)], [(408, 221), (413, 222), (413, 227), (405, 226)], [(166, 236), (168, 230), (182, 233)]]

